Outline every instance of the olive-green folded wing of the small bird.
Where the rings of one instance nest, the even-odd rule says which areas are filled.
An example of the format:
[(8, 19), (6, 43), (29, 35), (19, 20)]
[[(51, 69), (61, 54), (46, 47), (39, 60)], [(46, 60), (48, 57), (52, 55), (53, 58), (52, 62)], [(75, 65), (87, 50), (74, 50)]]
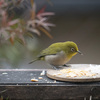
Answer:
[(58, 46), (49, 46), (45, 50), (43, 50), (40, 55), (38, 55), (38, 58), (44, 57), (46, 55), (56, 55), (58, 52), (62, 51), (62, 49)]

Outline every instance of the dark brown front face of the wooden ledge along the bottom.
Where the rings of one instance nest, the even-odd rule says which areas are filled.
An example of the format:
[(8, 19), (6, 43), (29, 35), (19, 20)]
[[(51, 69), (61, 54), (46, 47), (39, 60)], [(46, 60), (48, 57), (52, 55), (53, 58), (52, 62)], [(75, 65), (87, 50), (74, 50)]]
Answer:
[[(10, 99), (51, 100), (100, 98), (100, 87), (91, 92), (89, 86), (0, 86), (0, 95)], [(100, 100), (100, 99), (98, 99)]]

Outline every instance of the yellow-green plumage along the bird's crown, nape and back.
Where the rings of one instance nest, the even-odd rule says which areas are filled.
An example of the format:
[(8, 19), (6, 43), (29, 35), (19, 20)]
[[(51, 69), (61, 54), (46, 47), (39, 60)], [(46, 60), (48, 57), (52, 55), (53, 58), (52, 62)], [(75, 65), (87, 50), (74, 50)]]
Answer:
[(54, 44), (51, 44), (48, 48), (44, 49), (38, 57), (57, 54), (58, 52), (62, 50), (66, 53), (66, 55), (73, 56), (73, 54), (70, 55), (71, 47), (74, 47), (76, 51), (78, 51), (78, 47), (74, 42), (67, 41), (67, 42), (54, 43)]

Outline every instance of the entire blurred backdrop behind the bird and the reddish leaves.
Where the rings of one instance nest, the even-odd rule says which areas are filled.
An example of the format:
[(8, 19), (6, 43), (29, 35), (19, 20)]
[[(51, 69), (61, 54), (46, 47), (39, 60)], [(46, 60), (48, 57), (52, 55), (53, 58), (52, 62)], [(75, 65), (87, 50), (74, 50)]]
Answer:
[[(18, 18), (29, 18), (30, 0), (22, 0), (14, 13)], [(31, 0), (32, 1), (32, 0)], [(53, 12), (49, 16), (50, 35), (33, 34), (25, 37), (25, 45), (8, 41), (0, 44), (0, 68), (50, 68), (43, 61), (28, 64), (39, 52), (54, 42), (74, 41), (83, 55), (74, 56), (69, 64), (100, 64), (100, 1), (99, 0), (34, 0), (35, 13), (45, 7), (45, 12)], [(10, 6), (12, 7), (12, 6)], [(11, 10), (8, 12), (11, 13)], [(54, 26), (54, 25), (51, 25)]]

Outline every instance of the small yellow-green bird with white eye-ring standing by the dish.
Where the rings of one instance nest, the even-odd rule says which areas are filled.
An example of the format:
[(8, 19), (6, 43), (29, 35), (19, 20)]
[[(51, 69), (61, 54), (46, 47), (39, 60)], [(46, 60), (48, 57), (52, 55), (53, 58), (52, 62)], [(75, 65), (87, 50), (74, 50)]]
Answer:
[(66, 66), (66, 63), (77, 53), (82, 55), (75, 42), (57, 42), (42, 50), (37, 58), (29, 62), (29, 64), (37, 60), (44, 60), (52, 65), (54, 69), (57, 69), (59, 66)]

